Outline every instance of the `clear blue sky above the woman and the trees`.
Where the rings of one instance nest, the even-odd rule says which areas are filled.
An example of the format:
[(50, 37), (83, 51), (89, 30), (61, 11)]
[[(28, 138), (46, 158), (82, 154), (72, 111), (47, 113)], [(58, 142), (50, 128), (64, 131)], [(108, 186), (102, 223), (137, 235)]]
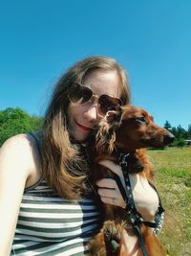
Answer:
[(191, 124), (190, 0), (0, 0), (0, 109), (43, 115), (76, 60), (116, 58), (133, 104), (156, 122)]

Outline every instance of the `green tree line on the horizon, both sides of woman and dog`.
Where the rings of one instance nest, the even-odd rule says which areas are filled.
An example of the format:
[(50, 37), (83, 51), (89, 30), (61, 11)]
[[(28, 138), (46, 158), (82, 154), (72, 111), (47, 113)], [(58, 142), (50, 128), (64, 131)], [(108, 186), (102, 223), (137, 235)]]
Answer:
[[(0, 110), (0, 147), (11, 136), (18, 133), (35, 131), (42, 128), (43, 117), (30, 115), (20, 107), (8, 107), (5, 110)], [(191, 124), (188, 129), (181, 126), (172, 127), (166, 121), (164, 128), (170, 130), (176, 137), (172, 146), (184, 146), (187, 140), (191, 140)]]

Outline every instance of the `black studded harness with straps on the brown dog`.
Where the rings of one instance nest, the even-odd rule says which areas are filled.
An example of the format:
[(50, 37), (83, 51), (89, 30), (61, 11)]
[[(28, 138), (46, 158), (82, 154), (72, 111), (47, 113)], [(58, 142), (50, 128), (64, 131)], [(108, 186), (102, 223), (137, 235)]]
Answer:
[[(129, 173), (128, 173), (128, 158), (129, 158), (129, 153), (128, 154), (123, 154), (123, 153), (119, 154), (119, 166), (122, 169), (122, 173), (123, 173), (124, 180), (125, 180), (126, 190), (124, 189), (118, 175), (116, 175), (117, 186), (118, 186), (118, 189), (120, 190), (122, 198), (126, 202), (125, 210), (127, 213), (127, 218), (128, 218), (128, 220), (131, 221), (132, 226), (138, 235), (138, 244), (140, 245), (143, 256), (148, 256), (148, 253), (147, 253), (147, 250), (146, 250), (146, 247), (144, 244), (143, 236), (142, 236), (142, 233), (140, 230), (140, 225), (143, 223), (146, 226), (155, 228), (155, 233), (158, 233), (159, 229), (161, 227), (162, 220), (163, 220), (164, 209), (161, 206), (161, 200), (159, 198), (159, 208), (158, 208), (158, 212), (155, 216), (154, 222), (144, 221), (143, 218), (141, 217), (141, 215), (138, 213), (138, 211), (136, 209), (135, 201), (133, 198), (133, 192), (132, 192), (132, 187), (131, 187)], [(149, 182), (149, 184), (157, 192), (157, 189), (155, 188), (155, 186), (151, 182)], [(158, 192), (157, 192), (157, 194), (158, 194)], [(159, 194), (158, 194), (158, 197), (159, 197)]]

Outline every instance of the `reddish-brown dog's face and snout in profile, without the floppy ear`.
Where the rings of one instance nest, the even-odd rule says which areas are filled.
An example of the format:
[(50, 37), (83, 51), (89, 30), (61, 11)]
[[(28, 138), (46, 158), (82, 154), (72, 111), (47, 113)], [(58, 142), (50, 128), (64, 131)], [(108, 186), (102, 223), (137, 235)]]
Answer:
[(174, 139), (174, 135), (155, 124), (153, 117), (144, 109), (134, 105), (122, 107), (115, 142), (121, 150), (161, 148), (173, 142)]

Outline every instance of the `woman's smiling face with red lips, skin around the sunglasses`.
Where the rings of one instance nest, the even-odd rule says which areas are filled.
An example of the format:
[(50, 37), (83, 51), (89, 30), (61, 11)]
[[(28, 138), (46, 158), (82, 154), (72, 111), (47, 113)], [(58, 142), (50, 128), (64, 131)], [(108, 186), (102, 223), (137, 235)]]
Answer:
[[(94, 94), (107, 94), (120, 97), (119, 79), (116, 71), (96, 71), (83, 82)], [(83, 142), (103, 115), (98, 112), (97, 98), (90, 104), (77, 105), (71, 103), (68, 108), (69, 128), (74, 139)]]

